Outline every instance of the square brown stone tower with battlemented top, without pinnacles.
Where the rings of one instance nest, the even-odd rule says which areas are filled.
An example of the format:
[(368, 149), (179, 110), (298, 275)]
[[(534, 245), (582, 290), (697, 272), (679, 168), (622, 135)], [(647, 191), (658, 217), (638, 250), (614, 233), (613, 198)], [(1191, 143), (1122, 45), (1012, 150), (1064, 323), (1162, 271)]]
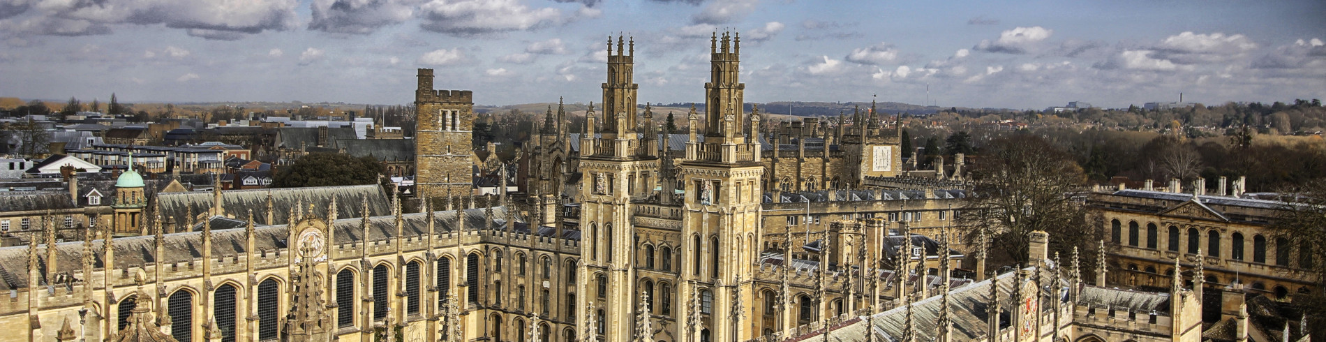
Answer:
[(419, 69), (415, 183), (420, 196), (471, 194), (473, 107), (469, 90), (434, 90), (432, 69)]

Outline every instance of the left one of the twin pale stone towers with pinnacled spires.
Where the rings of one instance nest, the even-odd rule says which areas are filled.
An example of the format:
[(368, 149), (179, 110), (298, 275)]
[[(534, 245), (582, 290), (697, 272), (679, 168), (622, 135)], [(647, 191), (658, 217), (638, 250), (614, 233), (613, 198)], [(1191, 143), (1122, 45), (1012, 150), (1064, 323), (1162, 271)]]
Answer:
[[(587, 131), (581, 139), (581, 262), (590, 284), (605, 281), (605, 292), (586, 292), (577, 308), (594, 304), (607, 326), (631, 326), (635, 322), (633, 306), (635, 292), (635, 227), (631, 223), (633, 201), (644, 200), (656, 183), (658, 151), (650, 148), (648, 139), (635, 134), (635, 89), (631, 82), (631, 56), (634, 44), (626, 50), (626, 41), (618, 37), (617, 53), (609, 48), (607, 82), (603, 84), (603, 115), (586, 114)], [(593, 109), (591, 109), (593, 110)], [(595, 138), (594, 122), (602, 122), (602, 134)], [(594, 288), (594, 286), (589, 286)], [(581, 326), (582, 331), (586, 326)], [(605, 341), (626, 342), (634, 337), (630, 329), (607, 329)]]

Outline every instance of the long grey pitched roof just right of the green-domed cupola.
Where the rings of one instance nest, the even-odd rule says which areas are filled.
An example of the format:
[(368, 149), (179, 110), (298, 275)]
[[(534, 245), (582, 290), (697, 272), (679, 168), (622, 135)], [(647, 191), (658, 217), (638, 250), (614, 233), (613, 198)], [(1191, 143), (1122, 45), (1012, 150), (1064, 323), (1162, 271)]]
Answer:
[[(363, 199), (367, 198), (369, 215), (381, 216), (391, 211), (391, 199), (381, 187), (343, 186), (343, 187), (305, 187), (305, 188), (265, 188), (265, 190), (229, 190), (221, 191), (221, 208), (235, 217), (244, 217), (249, 209), (259, 221), (267, 220), (267, 196), (272, 196), (273, 224), (285, 224), (292, 208), (301, 203), (320, 203), (314, 215), (326, 215), (326, 204), (332, 199), (337, 200), (337, 212), (341, 216), (363, 216)], [(174, 219), (176, 224), (184, 225), (190, 221), (190, 213), (206, 213), (212, 207), (212, 192), (171, 192), (156, 196), (160, 203), (162, 216), (168, 221)]]

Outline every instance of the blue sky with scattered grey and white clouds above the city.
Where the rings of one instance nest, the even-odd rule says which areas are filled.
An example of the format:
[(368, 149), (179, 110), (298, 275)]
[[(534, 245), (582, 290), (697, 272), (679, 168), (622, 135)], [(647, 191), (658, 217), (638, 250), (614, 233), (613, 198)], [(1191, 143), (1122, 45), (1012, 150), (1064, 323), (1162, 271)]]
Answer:
[[(1044, 109), (1326, 98), (1326, 1), (0, 0), (0, 97), (400, 105), (703, 101), (713, 32), (748, 102)], [(927, 90), (928, 89), (928, 90)]]

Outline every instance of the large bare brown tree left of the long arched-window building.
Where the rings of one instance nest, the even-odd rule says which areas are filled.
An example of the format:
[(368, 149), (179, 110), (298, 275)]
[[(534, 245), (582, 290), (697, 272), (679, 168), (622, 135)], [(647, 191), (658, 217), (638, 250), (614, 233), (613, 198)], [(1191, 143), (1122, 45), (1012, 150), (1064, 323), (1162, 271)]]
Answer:
[(1052, 253), (1097, 249), (1101, 219), (1081, 201), (1086, 175), (1067, 152), (1030, 134), (997, 138), (980, 152), (972, 170), (977, 186), (957, 223), (968, 243), (984, 232), (991, 251), (1004, 252), (991, 256), (994, 266), (1025, 265), (1034, 231), (1050, 233)]

